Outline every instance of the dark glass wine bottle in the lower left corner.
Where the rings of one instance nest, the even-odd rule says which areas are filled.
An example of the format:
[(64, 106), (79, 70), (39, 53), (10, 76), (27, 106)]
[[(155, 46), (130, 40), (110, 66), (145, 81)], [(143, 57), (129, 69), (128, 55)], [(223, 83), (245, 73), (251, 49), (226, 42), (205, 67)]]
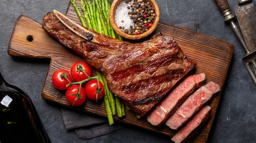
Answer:
[(30, 97), (1, 73), (0, 143), (51, 143)]

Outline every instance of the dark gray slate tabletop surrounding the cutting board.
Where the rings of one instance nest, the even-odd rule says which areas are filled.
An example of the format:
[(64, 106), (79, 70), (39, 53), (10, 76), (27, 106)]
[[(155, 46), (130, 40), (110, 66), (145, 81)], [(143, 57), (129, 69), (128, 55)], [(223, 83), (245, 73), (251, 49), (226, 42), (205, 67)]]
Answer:
[[(214, 0), (156, 0), (160, 8), (160, 21), (181, 24), (195, 21), (202, 34), (227, 41), (235, 46), (231, 65), (208, 142), (255, 142), (256, 140), (256, 85), (246, 70), (242, 58), (245, 51)], [(1, 0), (0, 2), (0, 72), (5, 80), (26, 91), (53, 143), (71, 142), (171, 142), (171, 138), (128, 127), (92, 139), (78, 139), (74, 131), (67, 131), (60, 116), (58, 104), (41, 97), (50, 60), (25, 59), (9, 56), (8, 43), (17, 18), (23, 14), (42, 23), (43, 16), (56, 9), (65, 13), (69, 1), (59, 0)], [(234, 13), (237, 0), (228, 0)], [(253, 1), (256, 6), (256, 0)], [(237, 23), (237, 21), (235, 21)], [(238, 24), (238, 23), (237, 23)]]

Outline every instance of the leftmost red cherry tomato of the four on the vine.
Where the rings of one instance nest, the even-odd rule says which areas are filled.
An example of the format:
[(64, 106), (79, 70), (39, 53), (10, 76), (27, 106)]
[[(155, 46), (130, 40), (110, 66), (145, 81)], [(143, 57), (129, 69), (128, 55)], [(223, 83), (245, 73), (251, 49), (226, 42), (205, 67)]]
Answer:
[(52, 81), (53, 81), (54, 87), (56, 87), (59, 90), (68, 89), (68, 87), (66, 86), (67, 84), (69, 84), (68, 80), (64, 77), (63, 78), (61, 77), (61, 75), (63, 75), (63, 73), (65, 73), (68, 80), (70, 82), (72, 82), (72, 77), (67, 70), (59, 69), (59, 70), (55, 71), (52, 76)]

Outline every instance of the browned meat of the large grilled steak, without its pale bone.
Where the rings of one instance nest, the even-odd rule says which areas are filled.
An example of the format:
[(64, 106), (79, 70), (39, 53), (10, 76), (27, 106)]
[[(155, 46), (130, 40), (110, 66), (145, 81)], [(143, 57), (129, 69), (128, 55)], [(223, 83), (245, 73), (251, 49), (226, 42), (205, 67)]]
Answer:
[(96, 37), (92, 42), (68, 29), (52, 12), (44, 16), (42, 28), (103, 72), (109, 90), (141, 116), (196, 65), (172, 37), (160, 33), (129, 43), (87, 29), (89, 37)]

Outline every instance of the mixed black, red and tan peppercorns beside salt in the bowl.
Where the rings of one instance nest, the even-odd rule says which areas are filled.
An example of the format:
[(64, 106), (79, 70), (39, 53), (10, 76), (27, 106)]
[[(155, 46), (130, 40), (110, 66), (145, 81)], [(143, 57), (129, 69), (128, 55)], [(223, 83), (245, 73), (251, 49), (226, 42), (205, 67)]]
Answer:
[[(131, 4), (131, 0), (125, 0), (125, 3)], [(133, 20), (134, 28), (130, 25), (130, 29), (125, 29), (124, 33), (129, 35), (138, 35), (146, 32), (153, 24), (155, 19), (155, 8), (147, 0), (134, 0), (134, 3), (127, 9), (129, 17)], [(120, 29), (124, 27), (119, 26)]]

